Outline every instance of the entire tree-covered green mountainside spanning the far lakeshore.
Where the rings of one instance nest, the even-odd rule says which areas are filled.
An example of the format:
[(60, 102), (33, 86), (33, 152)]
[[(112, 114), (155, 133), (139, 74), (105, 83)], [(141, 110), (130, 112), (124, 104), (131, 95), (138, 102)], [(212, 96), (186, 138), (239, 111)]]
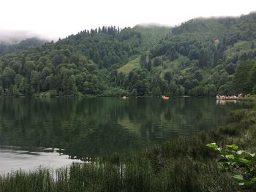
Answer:
[(1, 96), (256, 93), (256, 13), (0, 46)]

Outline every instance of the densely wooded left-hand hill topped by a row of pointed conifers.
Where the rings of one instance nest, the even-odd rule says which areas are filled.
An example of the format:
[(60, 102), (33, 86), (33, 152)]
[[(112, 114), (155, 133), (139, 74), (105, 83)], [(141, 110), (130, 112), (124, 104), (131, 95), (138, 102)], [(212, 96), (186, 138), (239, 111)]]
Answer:
[(103, 27), (5, 54), (0, 57), (3, 95), (109, 95), (108, 87), (120, 86), (124, 77), (108, 73), (138, 55), (140, 38), (132, 28)]

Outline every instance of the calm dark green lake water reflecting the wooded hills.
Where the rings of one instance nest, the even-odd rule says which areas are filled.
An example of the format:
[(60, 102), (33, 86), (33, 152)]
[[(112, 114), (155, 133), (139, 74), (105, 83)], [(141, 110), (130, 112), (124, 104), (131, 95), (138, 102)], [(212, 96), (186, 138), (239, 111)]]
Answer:
[(149, 147), (215, 128), (244, 107), (213, 98), (0, 99), (0, 172)]

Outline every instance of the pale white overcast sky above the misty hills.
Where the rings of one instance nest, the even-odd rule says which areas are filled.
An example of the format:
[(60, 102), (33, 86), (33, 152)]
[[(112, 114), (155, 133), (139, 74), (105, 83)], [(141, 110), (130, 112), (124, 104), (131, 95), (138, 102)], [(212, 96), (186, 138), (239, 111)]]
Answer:
[(98, 26), (175, 26), (192, 18), (255, 10), (256, 0), (0, 0), (0, 37), (20, 31), (58, 39)]

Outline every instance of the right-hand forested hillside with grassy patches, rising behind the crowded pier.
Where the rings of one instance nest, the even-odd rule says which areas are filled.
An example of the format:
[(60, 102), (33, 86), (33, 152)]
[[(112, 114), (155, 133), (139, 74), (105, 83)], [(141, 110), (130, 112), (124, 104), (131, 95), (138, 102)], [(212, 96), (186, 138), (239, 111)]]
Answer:
[(255, 31), (255, 13), (241, 18), (189, 20), (143, 55), (142, 64), (151, 77), (165, 80), (157, 88), (161, 93), (256, 93)]

